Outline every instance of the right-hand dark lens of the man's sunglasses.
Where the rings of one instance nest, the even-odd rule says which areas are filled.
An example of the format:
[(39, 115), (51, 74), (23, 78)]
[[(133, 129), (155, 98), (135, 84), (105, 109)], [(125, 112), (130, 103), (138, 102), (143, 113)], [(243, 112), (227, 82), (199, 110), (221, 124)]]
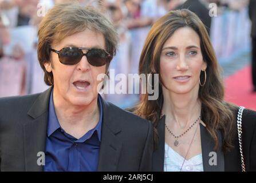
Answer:
[(103, 66), (107, 63), (108, 54), (103, 49), (91, 49), (86, 54), (87, 60), (92, 66)]

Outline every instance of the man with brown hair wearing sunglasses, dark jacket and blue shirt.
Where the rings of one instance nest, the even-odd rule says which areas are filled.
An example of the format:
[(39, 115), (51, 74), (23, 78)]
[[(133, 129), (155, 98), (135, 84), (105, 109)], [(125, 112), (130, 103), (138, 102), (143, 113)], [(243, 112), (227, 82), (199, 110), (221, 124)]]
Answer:
[(51, 87), (0, 99), (1, 171), (151, 170), (152, 125), (97, 90), (116, 45), (111, 22), (91, 7), (49, 10), (37, 51)]

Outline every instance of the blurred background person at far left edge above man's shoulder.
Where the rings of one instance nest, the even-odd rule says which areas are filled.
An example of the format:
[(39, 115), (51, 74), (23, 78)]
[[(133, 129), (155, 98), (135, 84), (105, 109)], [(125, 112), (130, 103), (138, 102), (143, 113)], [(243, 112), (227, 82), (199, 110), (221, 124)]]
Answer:
[(26, 62), (23, 48), (19, 44), (6, 53), (4, 46), (11, 42), (9, 19), (0, 14), (0, 97), (26, 93)]

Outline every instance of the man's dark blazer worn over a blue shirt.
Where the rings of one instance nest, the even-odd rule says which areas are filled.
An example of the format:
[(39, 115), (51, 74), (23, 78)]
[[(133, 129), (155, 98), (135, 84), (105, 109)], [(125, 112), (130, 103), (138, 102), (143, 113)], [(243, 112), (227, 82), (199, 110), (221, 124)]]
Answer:
[[(0, 98), (1, 171), (42, 171), (50, 89), (23, 97)], [(102, 99), (102, 98), (101, 98)], [(152, 124), (103, 101), (99, 171), (151, 171)]]

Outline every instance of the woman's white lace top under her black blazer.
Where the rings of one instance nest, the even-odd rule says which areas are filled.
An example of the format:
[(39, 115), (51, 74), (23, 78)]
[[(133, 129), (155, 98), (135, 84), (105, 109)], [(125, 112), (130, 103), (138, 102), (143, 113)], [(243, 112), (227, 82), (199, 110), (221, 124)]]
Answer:
[(202, 154), (184, 161), (184, 158), (166, 143), (164, 145), (164, 152), (164, 172), (203, 172)]

